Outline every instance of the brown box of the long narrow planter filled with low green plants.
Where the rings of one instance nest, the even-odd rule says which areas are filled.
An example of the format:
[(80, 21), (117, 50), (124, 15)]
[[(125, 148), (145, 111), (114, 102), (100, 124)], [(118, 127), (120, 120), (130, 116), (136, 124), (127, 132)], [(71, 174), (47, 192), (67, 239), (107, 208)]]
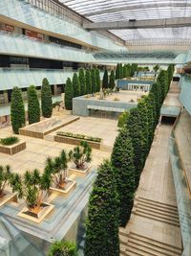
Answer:
[(79, 146), (81, 141), (86, 141), (92, 149), (100, 150), (101, 142), (89, 141), (84, 139), (76, 139), (67, 136), (54, 135), (54, 141)]

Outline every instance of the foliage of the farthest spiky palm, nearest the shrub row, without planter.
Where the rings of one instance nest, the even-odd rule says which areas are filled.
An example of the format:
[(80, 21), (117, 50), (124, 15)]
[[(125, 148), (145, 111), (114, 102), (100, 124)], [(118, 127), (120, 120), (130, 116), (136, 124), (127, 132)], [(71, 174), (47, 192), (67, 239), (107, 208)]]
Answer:
[(76, 169), (84, 169), (92, 161), (92, 149), (86, 141), (81, 141), (80, 146), (69, 152), (69, 159), (74, 161)]

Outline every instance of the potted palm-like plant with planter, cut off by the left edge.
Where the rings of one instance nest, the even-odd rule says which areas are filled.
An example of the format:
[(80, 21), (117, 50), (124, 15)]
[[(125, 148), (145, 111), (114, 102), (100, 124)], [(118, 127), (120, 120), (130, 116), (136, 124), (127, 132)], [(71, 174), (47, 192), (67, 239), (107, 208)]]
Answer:
[(11, 166), (0, 166), (0, 206), (9, 200), (16, 199), (16, 195), (7, 190), (10, 183)]

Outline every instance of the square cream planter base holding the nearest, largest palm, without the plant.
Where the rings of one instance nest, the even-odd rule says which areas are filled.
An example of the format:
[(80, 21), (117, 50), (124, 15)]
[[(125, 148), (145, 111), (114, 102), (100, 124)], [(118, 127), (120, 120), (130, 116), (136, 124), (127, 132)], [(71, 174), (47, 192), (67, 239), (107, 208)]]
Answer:
[(43, 202), (42, 209), (38, 213), (33, 213), (30, 211), (27, 207), (23, 208), (17, 216), (25, 218), (29, 221), (33, 221), (36, 223), (40, 223), (41, 221), (44, 221), (44, 219), (53, 211), (54, 205)]

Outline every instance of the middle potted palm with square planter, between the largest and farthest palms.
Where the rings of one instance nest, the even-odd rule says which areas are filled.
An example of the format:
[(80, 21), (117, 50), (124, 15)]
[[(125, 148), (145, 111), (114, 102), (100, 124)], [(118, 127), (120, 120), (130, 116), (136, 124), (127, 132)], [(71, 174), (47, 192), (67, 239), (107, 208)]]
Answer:
[(52, 192), (67, 194), (76, 184), (76, 182), (68, 178), (69, 157), (66, 151), (61, 151), (59, 156), (54, 158), (48, 157), (46, 160), (46, 171), (52, 176)]

